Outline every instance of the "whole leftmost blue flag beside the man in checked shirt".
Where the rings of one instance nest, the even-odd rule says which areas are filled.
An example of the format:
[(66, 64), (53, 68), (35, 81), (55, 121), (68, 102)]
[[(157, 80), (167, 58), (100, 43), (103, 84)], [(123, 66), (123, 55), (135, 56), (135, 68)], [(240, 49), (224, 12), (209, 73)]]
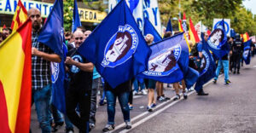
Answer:
[(44, 43), (55, 54), (61, 56), (61, 63), (51, 63), (52, 71), (52, 103), (62, 113), (65, 113), (65, 90), (64, 90), (64, 76), (65, 76), (65, 38), (63, 35), (63, 1), (55, 0), (53, 9), (49, 13), (44, 27), (38, 36), (38, 42)]

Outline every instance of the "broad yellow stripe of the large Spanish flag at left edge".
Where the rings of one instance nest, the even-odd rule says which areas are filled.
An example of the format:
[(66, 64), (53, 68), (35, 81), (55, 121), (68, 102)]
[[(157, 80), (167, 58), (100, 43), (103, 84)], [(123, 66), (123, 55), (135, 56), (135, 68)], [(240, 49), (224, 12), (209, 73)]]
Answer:
[(15, 132), (24, 59), (22, 38), (19, 32), (14, 32), (0, 45), (0, 80), (3, 83), (11, 132)]

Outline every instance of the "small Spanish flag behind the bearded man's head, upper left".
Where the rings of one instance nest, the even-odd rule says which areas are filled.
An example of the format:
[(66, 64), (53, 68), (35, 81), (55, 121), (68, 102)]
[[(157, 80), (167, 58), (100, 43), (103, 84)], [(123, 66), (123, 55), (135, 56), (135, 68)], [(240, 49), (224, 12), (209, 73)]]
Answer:
[(21, 1), (19, 0), (18, 5), (15, 10), (15, 15), (12, 21), (11, 28), (13, 31), (16, 31), (19, 26), (22, 25), (27, 20), (27, 12), (26, 8), (23, 6)]

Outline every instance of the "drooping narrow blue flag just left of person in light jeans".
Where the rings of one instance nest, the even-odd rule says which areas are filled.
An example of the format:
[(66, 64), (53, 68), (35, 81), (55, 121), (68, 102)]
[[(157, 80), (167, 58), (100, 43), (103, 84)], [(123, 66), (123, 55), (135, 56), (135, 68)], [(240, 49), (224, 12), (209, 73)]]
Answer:
[(202, 44), (202, 59), (201, 66), (199, 67), (199, 78), (195, 84), (195, 90), (199, 92), (202, 89), (202, 85), (206, 84), (209, 80), (215, 77), (216, 65), (210, 53), (207, 42), (204, 39), (203, 33), (201, 33)]

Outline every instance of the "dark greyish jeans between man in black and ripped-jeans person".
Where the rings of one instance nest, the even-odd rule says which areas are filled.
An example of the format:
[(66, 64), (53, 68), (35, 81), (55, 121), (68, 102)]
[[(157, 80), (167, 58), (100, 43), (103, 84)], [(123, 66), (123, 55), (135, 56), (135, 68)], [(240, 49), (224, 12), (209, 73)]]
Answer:
[(98, 90), (103, 90), (102, 78), (96, 78), (92, 80), (92, 89), (90, 95), (90, 123), (95, 124), (96, 119), (96, 105)]

